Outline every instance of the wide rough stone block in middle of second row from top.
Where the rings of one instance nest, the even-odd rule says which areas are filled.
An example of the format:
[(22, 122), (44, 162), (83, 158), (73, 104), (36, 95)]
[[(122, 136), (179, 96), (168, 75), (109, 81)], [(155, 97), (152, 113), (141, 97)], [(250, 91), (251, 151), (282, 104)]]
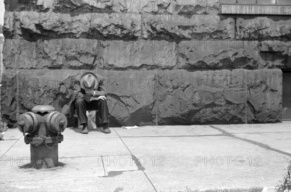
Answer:
[(217, 15), (144, 15), (146, 39), (234, 39), (232, 17)]

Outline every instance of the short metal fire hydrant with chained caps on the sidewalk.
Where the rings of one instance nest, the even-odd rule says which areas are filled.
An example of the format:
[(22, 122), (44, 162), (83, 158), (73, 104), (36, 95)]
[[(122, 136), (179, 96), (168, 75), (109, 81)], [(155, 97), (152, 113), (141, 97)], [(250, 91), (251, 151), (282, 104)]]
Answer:
[(19, 115), (17, 121), (24, 142), (30, 144), (32, 167), (41, 169), (58, 166), (58, 143), (64, 140), (61, 132), (67, 126), (65, 114), (55, 112), (49, 105), (36, 105), (32, 112)]

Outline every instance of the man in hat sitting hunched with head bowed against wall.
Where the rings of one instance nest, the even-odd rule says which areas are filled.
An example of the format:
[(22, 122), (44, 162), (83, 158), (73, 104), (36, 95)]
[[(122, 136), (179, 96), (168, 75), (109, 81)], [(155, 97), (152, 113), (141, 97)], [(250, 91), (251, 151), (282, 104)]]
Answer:
[(82, 125), (81, 133), (88, 133), (87, 110), (98, 110), (103, 123), (103, 132), (111, 133), (108, 126), (108, 106), (103, 78), (92, 72), (77, 75), (74, 80), (75, 97), (71, 103), (77, 110), (77, 115)]

